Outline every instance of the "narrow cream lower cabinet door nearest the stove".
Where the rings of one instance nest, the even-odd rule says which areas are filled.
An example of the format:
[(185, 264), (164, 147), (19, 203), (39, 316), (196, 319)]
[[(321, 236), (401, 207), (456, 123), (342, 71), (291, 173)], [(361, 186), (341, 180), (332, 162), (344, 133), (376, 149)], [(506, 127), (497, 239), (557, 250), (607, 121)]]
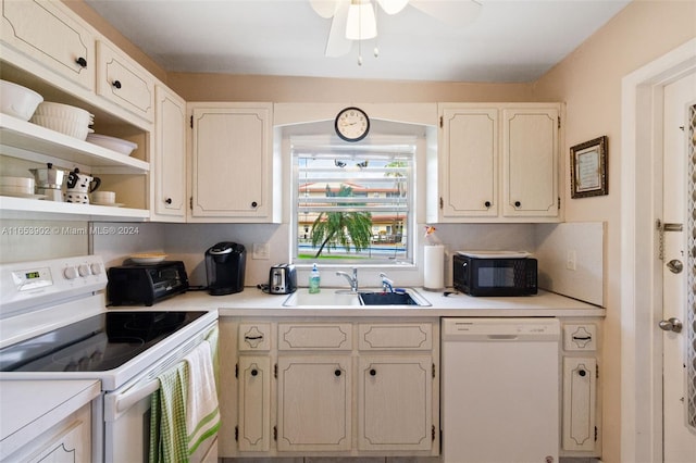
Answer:
[(268, 452), (271, 448), (270, 356), (239, 358), (239, 450)]

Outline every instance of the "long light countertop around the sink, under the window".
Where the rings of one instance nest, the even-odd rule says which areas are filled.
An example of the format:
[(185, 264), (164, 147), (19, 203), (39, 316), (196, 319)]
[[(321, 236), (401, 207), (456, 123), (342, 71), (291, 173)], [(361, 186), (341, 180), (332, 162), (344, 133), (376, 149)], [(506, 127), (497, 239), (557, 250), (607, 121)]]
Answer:
[[(322, 288), (335, 291), (339, 288)], [(345, 289), (345, 288), (340, 288)], [(284, 306), (286, 295), (268, 295), (256, 287), (226, 296), (210, 296), (206, 291), (188, 291), (156, 303), (147, 310), (217, 310), (220, 316), (361, 316), (361, 317), (442, 317), (442, 316), (599, 316), (606, 315), (604, 308), (567, 298), (552, 292), (539, 291), (536, 296), (483, 298), (455, 292), (427, 291), (415, 288), (430, 306), (391, 305), (297, 305)], [(301, 290), (301, 289), (300, 289)], [(365, 288), (364, 290), (377, 290)], [(136, 309), (112, 308), (112, 309)]]

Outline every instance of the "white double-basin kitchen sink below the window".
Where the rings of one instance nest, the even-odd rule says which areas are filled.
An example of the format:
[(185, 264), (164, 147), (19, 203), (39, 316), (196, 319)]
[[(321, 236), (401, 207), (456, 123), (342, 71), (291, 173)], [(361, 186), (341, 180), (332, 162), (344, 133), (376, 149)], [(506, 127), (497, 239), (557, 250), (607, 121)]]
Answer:
[(346, 305), (431, 305), (414, 289), (398, 292), (383, 292), (381, 290), (352, 292), (348, 289), (326, 289), (310, 293), (308, 288), (299, 288), (283, 302), (284, 306), (321, 305), (323, 308)]

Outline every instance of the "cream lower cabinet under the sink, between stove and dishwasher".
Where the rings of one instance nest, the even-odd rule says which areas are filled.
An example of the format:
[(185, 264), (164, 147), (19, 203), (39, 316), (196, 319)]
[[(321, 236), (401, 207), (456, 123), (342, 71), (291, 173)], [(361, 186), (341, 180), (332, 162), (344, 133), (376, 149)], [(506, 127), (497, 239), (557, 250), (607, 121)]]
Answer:
[(221, 330), (221, 458), (439, 454), (437, 320), (222, 317)]

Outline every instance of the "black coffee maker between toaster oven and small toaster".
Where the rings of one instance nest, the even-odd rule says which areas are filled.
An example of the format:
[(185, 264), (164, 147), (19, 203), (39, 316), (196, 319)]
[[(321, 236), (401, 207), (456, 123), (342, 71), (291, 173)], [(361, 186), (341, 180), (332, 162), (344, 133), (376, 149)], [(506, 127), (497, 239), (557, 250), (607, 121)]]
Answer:
[(244, 290), (247, 251), (243, 245), (223, 241), (206, 251), (208, 292), (212, 296), (232, 295)]

